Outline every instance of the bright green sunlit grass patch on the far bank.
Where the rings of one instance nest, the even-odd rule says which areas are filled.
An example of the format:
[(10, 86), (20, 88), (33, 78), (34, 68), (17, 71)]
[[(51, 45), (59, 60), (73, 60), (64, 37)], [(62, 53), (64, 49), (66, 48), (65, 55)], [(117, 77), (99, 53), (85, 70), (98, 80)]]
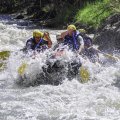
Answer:
[(97, 0), (95, 3), (87, 3), (78, 10), (74, 19), (93, 28), (98, 28), (101, 23), (113, 13), (110, 8), (110, 0)]

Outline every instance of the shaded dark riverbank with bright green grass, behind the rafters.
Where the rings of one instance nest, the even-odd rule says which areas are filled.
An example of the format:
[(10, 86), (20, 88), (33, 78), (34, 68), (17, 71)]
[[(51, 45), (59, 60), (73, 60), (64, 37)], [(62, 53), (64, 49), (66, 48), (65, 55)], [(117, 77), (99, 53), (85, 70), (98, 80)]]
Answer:
[[(66, 28), (75, 24), (88, 32), (95, 32), (103, 21), (112, 14), (111, 0), (86, 1), (12, 1), (1, 6), (1, 13), (9, 13), (15, 19), (30, 20), (49, 28)], [(19, 8), (19, 9), (18, 9)]]

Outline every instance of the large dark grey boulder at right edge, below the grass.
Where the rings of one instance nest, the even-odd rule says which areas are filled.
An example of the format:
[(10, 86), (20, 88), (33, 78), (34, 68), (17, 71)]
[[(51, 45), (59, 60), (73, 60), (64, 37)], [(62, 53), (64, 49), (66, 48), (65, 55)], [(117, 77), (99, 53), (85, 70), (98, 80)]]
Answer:
[(120, 14), (110, 16), (95, 34), (94, 44), (99, 45), (100, 50), (120, 49)]

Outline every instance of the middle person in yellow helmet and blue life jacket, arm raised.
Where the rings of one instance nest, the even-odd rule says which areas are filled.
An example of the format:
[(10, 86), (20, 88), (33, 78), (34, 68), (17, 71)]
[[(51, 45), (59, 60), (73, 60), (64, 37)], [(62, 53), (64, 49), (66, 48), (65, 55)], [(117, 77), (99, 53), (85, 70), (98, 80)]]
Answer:
[(84, 48), (82, 36), (77, 31), (75, 25), (68, 25), (67, 30), (60, 35), (59, 41), (67, 45), (70, 50), (81, 53)]

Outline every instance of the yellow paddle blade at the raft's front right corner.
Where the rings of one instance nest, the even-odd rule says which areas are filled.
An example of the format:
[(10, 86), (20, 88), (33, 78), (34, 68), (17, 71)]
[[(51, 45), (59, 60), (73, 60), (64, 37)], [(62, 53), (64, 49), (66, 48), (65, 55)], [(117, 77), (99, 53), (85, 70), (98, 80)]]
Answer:
[(86, 68), (81, 67), (80, 68), (80, 77), (81, 77), (81, 82), (82, 83), (87, 82), (89, 80), (89, 78), (90, 78), (89, 71)]

